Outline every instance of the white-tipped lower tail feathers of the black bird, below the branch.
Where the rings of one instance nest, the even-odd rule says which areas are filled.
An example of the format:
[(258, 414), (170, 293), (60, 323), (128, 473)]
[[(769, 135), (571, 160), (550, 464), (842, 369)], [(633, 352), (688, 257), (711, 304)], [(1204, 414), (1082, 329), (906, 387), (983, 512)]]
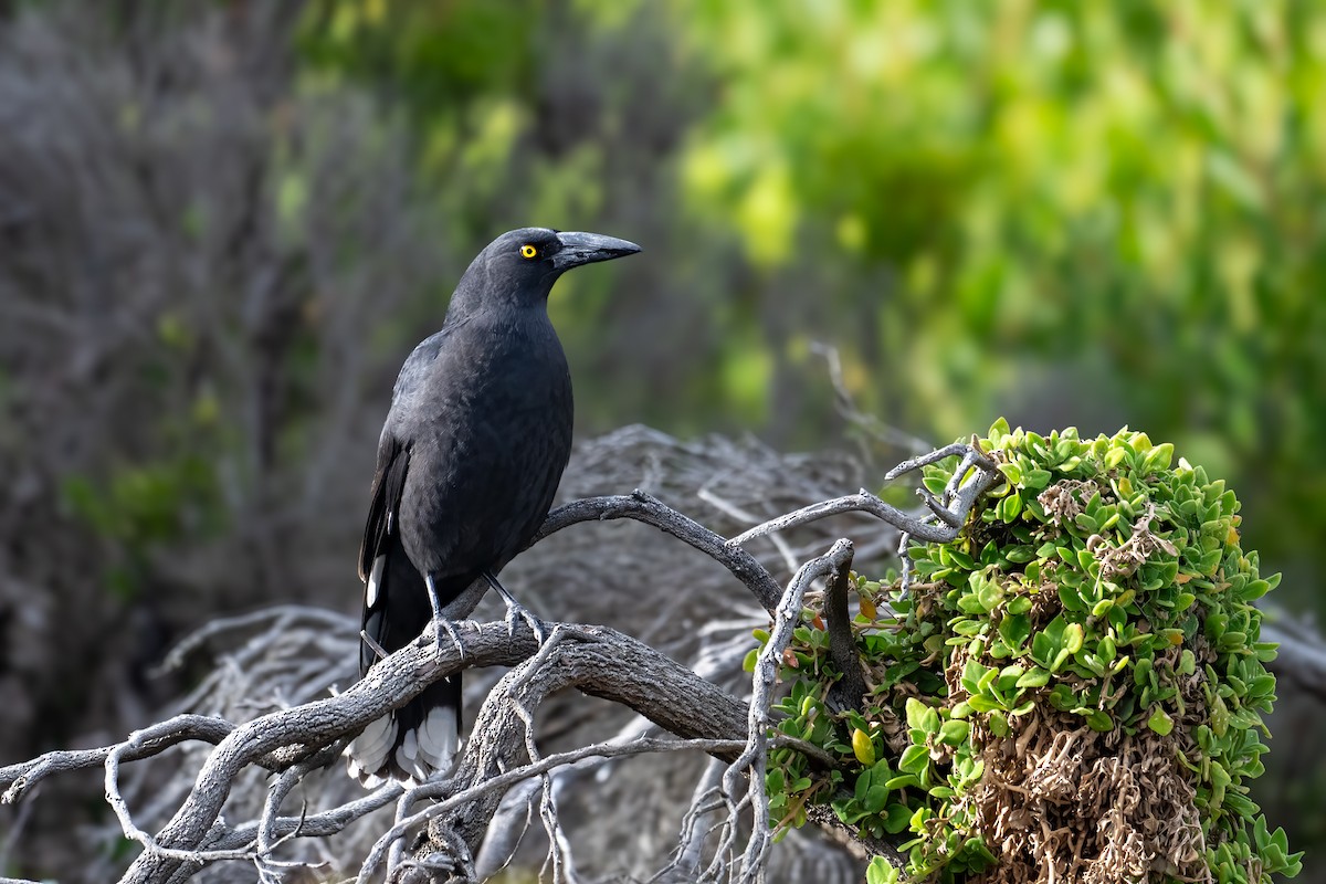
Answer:
[(369, 722), (345, 749), (350, 775), (377, 789), (387, 779), (418, 785), (446, 771), (460, 747), (460, 697), (457, 672)]

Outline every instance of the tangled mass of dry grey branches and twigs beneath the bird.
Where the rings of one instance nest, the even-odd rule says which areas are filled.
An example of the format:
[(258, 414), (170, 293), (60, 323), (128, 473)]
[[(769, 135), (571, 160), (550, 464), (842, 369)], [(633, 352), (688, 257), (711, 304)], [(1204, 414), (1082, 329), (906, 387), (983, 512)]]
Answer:
[[(566, 492), (647, 481), (679, 505), (709, 501), (705, 516), (721, 525), (735, 509), (748, 521), (769, 516), (758, 496), (774, 497), (773, 489), (842, 497), (825, 482), (850, 476), (849, 464), (782, 457), (752, 441), (683, 444), (627, 428), (577, 449)], [(690, 484), (700, 488), (687, 492)], [(802, 502), (780, 505), (796, 510)], [(586, 517), (594, 518), (574, 522)], [(697, 549), (712, 542), (708, 529), (688, 527), (646, 494), (582, 500), (554, 514), (549, 526), (565, 530), (517, 559), (508, 582), (536, 607), (565, 606), (583, 620), (590, 611), (629, 615), (648, 640), (564, 622), (550, 624), (540, 644), (522, 620), (464, 623), (459, 645), (426, 636), (367, 680), (328, 696), (337, 683), (354, 681), (353, 619), (288, 606), (216, 622), (176, 655), (229, 645), (221, 665), (179, 704), (180, 714), (111, 747), (3, 769), (4, 797), (19, 799), (54, 773), (102, 766), (123, 830), (154, 844), (126, 881), (244, 881), (255, 869), (272, 881), (355, 869), (361, 880), (377, 880), (387, 864), (396, 881), (447, 880), (452, 872), (484, 879), (508, 861), (530, 869), (546, 863), (554, 880), (859, 880), (862, 846), (849, 838), (855, 850), (845, 848), (841, 832), (808, 828), (770, 846), (768, 827), (754, 824), (764, 815), (762, 789), (753, 787), (762, 783), (780, 643), (818, 578), (839, 584), (833, 575), (850, 566), (853, 545), (829, 545), (835, 531), (821, 522), (782, 538), (781, 550), (772, 539), (753, 545), (765, 553), (754, 559), (756, 574), (785, 565), (805, 541), (810, 549), (801, 554), (818, 554), (778, 578), (774, 635), (752, 683), (740, 661), (753, 647), (749, 630), (768, 623), (769, 612), (753, 603), (765, 582), (752, 579), (751, 559), (729, 545), (678, 555), (687, 547), (625, 518), (671, 526)], [(855, 521), (835, 527), (870, 546), (882, 524), (849, 518)], [(1286, 681), (1322, 689), (1314, 668), (1326, 656), (1319, 636), (1302, 626), (1282, 630), (1274, 618), (1265, 636), (1288, 639), (1276, 664)], [(343, 737), (461, 665), (511, 671), (496, 683), (481, 671), (471, 679), (471, 698), (483, 702), (456, 775), (410, 795), (398, 785), (359, 790), (335, 757)], [(241, 721), (248, 724), (235, 724)], [(171, 745), (179, 747), (159, 754)], [(158, 765), (175, 766), (164, 786), (146, 775)], [(829, 816), (819, 822), (833, 824)], [(94, 869), (88, 880), (117, 873)]]

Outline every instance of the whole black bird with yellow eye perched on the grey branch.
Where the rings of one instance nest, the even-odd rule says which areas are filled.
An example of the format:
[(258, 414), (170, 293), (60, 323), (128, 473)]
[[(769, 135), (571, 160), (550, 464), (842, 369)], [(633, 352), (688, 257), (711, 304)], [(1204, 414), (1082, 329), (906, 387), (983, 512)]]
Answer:
[[(639, 250), (599, 233), (503, 233), (400, 367), (359, 549), (361, 677), (430, 624), (438, 640), (452, 632), (489, 587), (516, 610), (496, 575), (538, 531), (572, 449), (570, 370), (548, 296), (572, 268)], [(450, 769), (460, 700), (455, 673), (370, 722), (345, 749), (350, 775), (375, 787)]]

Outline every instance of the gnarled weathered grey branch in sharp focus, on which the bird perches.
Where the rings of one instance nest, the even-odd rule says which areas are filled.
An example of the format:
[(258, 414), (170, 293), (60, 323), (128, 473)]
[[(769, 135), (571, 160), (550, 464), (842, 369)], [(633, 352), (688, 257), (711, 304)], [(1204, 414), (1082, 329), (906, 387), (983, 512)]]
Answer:
[[(774, 619), (773, 635), (756, 665), (751, 705), (648, 645), (603, 627), (549, 624), (552, 635), (540, 644), (524, 623), (461, 623), (455, 628), (457, 641), (435, 641), (432, 635), (427, 635), (381, 661), (367, 677), (339, 696), (278, 709), (237, 726), (223, 718), (180, 716), (139, 732), (115, 746), (85, 753), (53, 753), (27, 765), (7, 767), (0, 771), (0, 783), (11, 783), (7, 795), (12, 799), (27, 785), (49, 773), (105, 765), (107, 798), (122, 828), (145, 847), (123, 881), (155, 884), (182, 881), (203, 865), (223, 859), (251, 860), (259, 865), (260, 876), (276, 876), (290, 865), (273, 857), (282, 842), (293, 836), (321, 836), (339, 831), (353, 819), (398, 799), (398, 823), (378, 842), (362, 873), (371, 873), (389, 852), (399, 854), (403, 844), (400, 835), (427, 822), (428, 847), (400, 863), (399, 871), (407, 876), (406, 880), (411, 875), (424, 880), (439, 869), (469, 875), (473, 872), (471, 857), (509, 786), (530, 777), (542, 777), (541, 818), (549, 840), (554, 844), (554, 873), (569, 875), (570, 867), (562, 868), (562, 857), (557, 855), (557, 844), (564, 840), (564, 835), (548, 771), (595, 754), (613, 757), (629, 751), (676, 747), (672, 744), (655, 746), (638, 741), (601, 744), (585, 747), (581, 754), (564, 753), (549, 759), (540, 758), (533, 738), (534, 710), (552, 692), (574, 687), (639, 712), (663, 730), (690, 741), (687, 747), (700, 747), (731, 762), (721, 777), (720, 789), (705, 798), (705, 806), (711, 810), (727, 811), (727, 819), (717, 823), (717, 828), (711, 828), (719, 834), (717, 850), (707, 869), (695, 871), (701, 872), (703, 880), (731, 877), (754, 881), (762, 875), (772, 843), (764, 779), (778, 667), (792, 631), (800, 622), (805, 592), (815, 580), (829, 578), (833, 592), (842, 596), (842, 610), (835, 604), (830, 622), (834, 631), (847, 628), (850, 640), (846, 590), (853, 546), (846, 539), (838, 541), (829, 553), (806, 562), (784, 588), (741, 543), (849, 510), (875, 514), (904, 530), (914, 530), (920, 537), (948, 533), (953, 530), (952, 525), (965, 520), (976, 497), (997, 481), (992, 464), (972, 447), (951, 447), (928, 460), (955, 453), (963, 455), (959, 476), (941, 500), (926, 496), (931, 510), (926, 520), (902, 514), (866, 492), (804, 508), (765, 522), (732, 541), (725, 541), (695, 520), (639, 490), (630, 496), (575, 501), (549, 516), (540, 538), (578, 522), (631, 518), (682, 539), (733, 574)], [(923, 463), (927, 459), (910, 461), (904, 467), (916, 468)], [(932, 525), (935, 521), (941, 524)], [(282, 616), (302, 614), (294, 611)], [(171, 657), (171, 663), (215, 632), (267, 620), (271, 620), (271, 612), (216, 624), (191, 637)], [(842, 653), (845, 648), (849, 651), (846, 656)], [(835, 656), (843, 656), (839, 660), (843, 672), (854, 673), (857, 681), (861, 681), (859, 667), (851, 665), (855, 661), (851, 651), (847, 645), (839, 647)], [(509, 665), (514, 669), (489, 693), (465, 755), (451, 779), (415, 790), (386, 787), (321, 814), (281, 815), (282, 802), (294, 786), (312, 770), (330, 761), (345, 738), (390, 709), (399, 708), (432, 681), (464, 667), (488, 665)], [(859, 697), (863, 684), (858, 687), (862, 689), (847, 685), (849, 693)], [(133, 822), (129, 802), (118, 790), (119, 765), (159, 753), (176, 742), (199, 740), (213, 742), (217, 747), (203, 763), (191, 793), (156, 835), (139, 830)], [(622, 745), (635, 749), (618, 747)], [(801, 749), (815, 758), (817, 763), (833, 763), (830, 757), (814, 747)], [(219, 822), (220, 808), (235, 778), (251, 765), (261, 765), (281, 775), (273, 783), (256, 822), (239, 827), (225, 826)], [(414, 802), (424, 798), (440, 798), (442, 803), (430, 806), (422, 814), (408, 810)], [(739, 828), (747, 824), (751, 835), (737, 857)], [(696, 834), (699, 831), (692, 832)], [(703, 834), (699, 836), (704, 839)], [(446, 857), (434, 856), (438, 851)], [(695, 856), (693, 846), (683, 852)]]

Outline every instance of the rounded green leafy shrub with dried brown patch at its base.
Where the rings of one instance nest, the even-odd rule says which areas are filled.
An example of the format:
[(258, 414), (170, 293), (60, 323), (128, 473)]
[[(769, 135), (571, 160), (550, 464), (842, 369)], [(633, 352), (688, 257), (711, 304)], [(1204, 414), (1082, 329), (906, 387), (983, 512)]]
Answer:
[[(1000, 421), (981, 445), (1006, 481), (960, 535), (910, 547), (906, 591), (855, 577), (861, 712), (829, 709), (838, 672), (809, 599), (778, 730), (839, 765), (773, 751), (774, 822), (829, 803), (867, 843), (902, 843), (914, 879), (1296, 875), (1248, 798), (1276, 689), (1253, 602), (1278, 575), (1240, 549), (1233, 492), (1138, 432)], [(894, 880), (883, 859), (870, 880)]]

